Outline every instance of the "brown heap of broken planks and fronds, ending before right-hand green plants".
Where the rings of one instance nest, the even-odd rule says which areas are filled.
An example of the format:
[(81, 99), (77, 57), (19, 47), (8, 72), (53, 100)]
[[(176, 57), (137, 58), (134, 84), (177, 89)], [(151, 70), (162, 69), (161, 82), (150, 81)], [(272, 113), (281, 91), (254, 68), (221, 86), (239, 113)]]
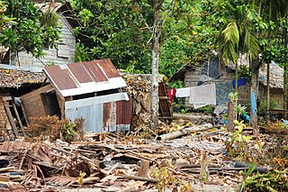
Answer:
[(185, 128), (193, 136), (164, 134), (161, 141), (90, 133), (85, 142), (4, 142), (0, 184), (9, 191), (237, 188), (241, 176), (223, 153), (225, 132), (211, 129), (211, 124), (201, 127)]

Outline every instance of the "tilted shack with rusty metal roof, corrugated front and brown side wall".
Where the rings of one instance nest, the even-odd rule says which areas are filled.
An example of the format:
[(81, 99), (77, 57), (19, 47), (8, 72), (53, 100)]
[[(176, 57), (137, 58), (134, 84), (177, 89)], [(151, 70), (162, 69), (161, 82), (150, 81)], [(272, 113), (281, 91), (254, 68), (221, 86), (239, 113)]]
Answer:
[[(39, 87), (15, 95), (20, 97), (25, 125), (30, 117), (58, 115), (71, 121), (83, 118), (88, 132), (130, 130), (131, 102), (127, 85), (110, 59), (56, 65), (43, 70), (46, 79), (44, 81), (44, 74), (40, 73)], [(6, 95), (2, 95), (3, 100), (6, 99)], [(9, 105), (13, 107), (15, 102), (12, 100)], [(16, 114), (10, 118), (9, 111), (6, 112), (9, 123), (16, 129), (14, 118), (21, 119), (21, 116), (18, 118)]]

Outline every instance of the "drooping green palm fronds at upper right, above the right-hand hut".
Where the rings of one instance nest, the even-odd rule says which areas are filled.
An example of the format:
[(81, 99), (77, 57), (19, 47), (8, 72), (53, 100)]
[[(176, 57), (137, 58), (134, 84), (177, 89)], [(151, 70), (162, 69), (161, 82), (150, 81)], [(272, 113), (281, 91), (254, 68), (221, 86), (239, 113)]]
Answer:
[(259, 46), (257, 38), (252, 35), (255, 23), (260, 19), (257, 9), (246, 1), (209, 1), (211, 14), (208, 19), (217, 27), (217, 50), (222, 58), (237, 62), (239, 53), (257, 57)]

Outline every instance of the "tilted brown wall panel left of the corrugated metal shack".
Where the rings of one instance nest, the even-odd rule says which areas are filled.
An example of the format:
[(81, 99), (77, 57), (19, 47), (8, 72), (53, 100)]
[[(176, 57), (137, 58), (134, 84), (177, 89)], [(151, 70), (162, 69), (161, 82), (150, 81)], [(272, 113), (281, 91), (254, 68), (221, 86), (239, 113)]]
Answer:
[(52, 88), (53, 87), (49, 84), (48, 86), (40, 87), (37, 90), (31, 91), (30, 93), (21, 96), (24, 111), (28, 119), (29, 117), (38, 117), (47, 115), (45, 113), (45, 108), (42, 103), (40, 94), (45, 93), (46, 91)]

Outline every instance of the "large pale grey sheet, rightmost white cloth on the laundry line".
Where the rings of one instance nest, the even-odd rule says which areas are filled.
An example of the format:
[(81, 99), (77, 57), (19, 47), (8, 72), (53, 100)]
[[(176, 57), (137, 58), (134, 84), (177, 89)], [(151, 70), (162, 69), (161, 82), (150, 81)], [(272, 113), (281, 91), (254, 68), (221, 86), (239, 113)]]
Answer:
[(193, 104), (194, 108), (199, 108), (204, 105), (216, 105), (215, 84), (190, 87), (189, 104)]

